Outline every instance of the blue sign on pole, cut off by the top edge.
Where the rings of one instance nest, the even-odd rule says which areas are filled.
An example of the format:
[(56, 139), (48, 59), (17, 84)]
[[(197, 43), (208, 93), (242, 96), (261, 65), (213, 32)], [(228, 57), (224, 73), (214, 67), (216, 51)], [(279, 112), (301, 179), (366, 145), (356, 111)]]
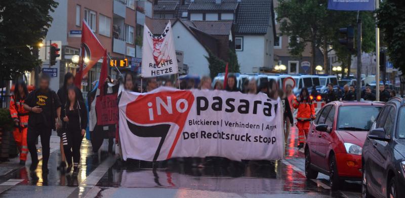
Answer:
[(376, 8), (375, 5), (375, 0), (329, 0), (328, 9), (345, 11), (374, 11)]

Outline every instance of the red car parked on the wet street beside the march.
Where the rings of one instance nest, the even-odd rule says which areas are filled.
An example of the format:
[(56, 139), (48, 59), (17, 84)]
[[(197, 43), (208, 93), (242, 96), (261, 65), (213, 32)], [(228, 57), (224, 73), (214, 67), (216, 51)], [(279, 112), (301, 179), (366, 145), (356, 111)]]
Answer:
[(361, 151), (384, 103), (332, 102), (319, 110), (305, 145), (305, 175), (329, 175), (332, 189), (361, 180)]

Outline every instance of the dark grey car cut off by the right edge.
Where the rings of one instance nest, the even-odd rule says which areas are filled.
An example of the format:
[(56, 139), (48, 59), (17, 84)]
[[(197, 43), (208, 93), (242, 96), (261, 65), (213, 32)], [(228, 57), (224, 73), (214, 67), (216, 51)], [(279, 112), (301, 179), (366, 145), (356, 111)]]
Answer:
[(362, 150), (362, 197), (405, 197), (405, 102), (385, 104)]

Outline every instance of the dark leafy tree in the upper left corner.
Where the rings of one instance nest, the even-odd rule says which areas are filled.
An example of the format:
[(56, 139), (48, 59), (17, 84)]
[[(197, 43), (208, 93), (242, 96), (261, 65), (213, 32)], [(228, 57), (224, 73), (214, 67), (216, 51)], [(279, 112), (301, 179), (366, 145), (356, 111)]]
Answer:
[(54, 0), (0, 1), (0, 76), (10, 78), (41, 65), (35, 52), (57, 5)]

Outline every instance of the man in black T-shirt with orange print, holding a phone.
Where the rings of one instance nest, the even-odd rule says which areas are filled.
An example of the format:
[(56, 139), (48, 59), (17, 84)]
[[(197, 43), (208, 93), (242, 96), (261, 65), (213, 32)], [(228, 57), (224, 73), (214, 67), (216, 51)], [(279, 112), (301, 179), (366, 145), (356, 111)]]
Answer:
[(58, 120), (60, 118), (61, 104), (55, 91), (49, 88), (50, 78), (46, 74), (39, 78), (39, 88), (28, 94), (25, 100), (24, 109), (29, 111), (27, 144), (31, 154), (32, 164), (30, 170), (35, 170), (38, 164), (35, 141), (41, 136), (43, 152), (43, 173), (48, 173), (48, 160), (50, 153), (50, 138), (52, 129), (60, 127)]

